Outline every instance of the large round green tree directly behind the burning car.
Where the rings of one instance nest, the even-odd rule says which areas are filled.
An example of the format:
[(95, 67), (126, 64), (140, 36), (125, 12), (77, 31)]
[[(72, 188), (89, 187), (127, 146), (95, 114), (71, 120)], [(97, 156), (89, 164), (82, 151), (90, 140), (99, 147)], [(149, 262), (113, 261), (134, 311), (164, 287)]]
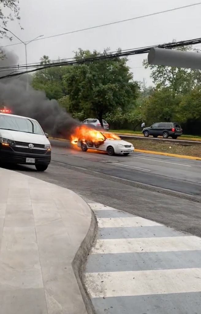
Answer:
[(64, 76), (69, 93), (70, 111), (84, 111), (99, 119), (103, 126), (103, 115), (116, 108), (128, 110), (137, 97), (138, 84), (133, 80), (126, 58), (110, 58), (108, 49), (103, 54), (79, 49), (75, 59), (97, 56), (105, 60), (91, 61), (72, 66)]

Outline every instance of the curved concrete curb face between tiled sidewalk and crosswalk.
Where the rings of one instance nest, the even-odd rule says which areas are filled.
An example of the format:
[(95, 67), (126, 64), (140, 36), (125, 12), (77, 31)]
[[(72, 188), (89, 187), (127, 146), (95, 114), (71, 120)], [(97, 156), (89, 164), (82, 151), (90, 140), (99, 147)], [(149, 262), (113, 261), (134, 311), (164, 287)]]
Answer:
[[(91, 209), (90, 206), (89, 208)], [(85, 287), (84, 280), (82, 279), (82, 273), (87, 263), (87, 257), (91, 251), (93, 242), (95, 240), (95, 237), (98, 231), (98, 223), (92, 209), (91, 209), (91, 213), (92, 213), (92, 217), (91, 217), (91, 224), (90, 224), (89, 230), (72, 261), (72, 268), (73, 268), (75, 277), (77, 279), (77, 284), (80, 288), (80, 292), (81, 292), (82, 299), (84, 301), (87, 313), (96, 314), (92, 301)]]

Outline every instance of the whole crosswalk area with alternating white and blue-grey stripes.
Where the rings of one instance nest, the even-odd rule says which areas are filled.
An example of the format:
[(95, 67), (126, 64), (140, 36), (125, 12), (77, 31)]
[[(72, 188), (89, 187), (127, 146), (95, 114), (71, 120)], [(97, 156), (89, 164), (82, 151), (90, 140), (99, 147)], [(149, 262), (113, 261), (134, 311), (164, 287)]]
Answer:
[(201, 313), (201, 238), (91, 207), (99, 231), (83, 277), (98, 314)]

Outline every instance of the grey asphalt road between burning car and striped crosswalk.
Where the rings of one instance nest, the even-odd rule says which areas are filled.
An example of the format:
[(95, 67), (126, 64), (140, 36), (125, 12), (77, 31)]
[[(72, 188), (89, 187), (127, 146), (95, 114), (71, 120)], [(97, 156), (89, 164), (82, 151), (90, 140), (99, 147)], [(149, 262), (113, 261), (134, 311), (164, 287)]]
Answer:
[(66, 142), (51, 143), (47, 171), (12, 169), (69, 188), (86, 200), (201, 236), (200, 161), (137, 152), (111, 157), (70, 149)]

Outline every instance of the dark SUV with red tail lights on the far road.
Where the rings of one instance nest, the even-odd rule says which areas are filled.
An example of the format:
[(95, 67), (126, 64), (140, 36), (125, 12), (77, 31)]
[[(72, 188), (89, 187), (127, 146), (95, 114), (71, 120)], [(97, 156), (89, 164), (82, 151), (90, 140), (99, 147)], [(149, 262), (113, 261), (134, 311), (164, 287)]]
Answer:
[(152, 135), (154, 138), (162, 136), (163, 138), (171, 137), (176, 139), (182, 135), (182, 128), (175, 122), (160, 122), (154, 123), (151, 127), (145, 127), (142, 133), (145, 137)]

